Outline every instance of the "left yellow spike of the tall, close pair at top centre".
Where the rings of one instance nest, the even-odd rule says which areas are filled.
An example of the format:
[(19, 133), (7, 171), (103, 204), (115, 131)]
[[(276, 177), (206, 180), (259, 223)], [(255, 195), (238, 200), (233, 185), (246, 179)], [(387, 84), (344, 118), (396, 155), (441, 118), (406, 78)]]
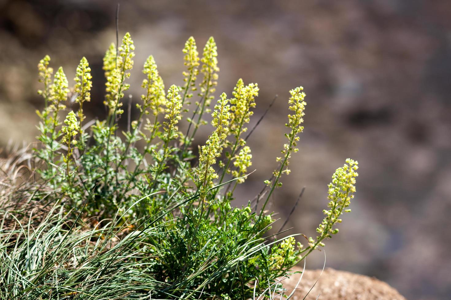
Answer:
[(185, 97), (191, 98), (193, 97), (192, 93), (189, 93), (189, 90), (196, 90), (195, 84), (196, 79), (199, 74), (199, 53), (196, 46), (196, 41), (192, 36), (189, 37), (189, 39), (185, 43), (185, 47), (182, 50), (185, 54), (183, 60), (184, 65), (187, 67), (188, 71), (183, 72), (185, 82), (184, 88), (185, 88)]

